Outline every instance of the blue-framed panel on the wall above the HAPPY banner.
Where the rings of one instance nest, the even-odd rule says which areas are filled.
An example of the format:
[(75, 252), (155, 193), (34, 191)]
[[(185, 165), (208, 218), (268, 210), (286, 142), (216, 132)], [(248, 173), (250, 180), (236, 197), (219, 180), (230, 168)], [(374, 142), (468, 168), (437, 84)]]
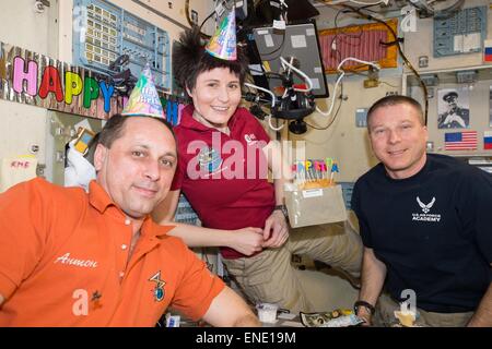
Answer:
[(156, 87), (171, 92), (167, 32), (105, 0), (74, 0), (73, 23), (75, 64), (107, 74), (116, 58), (128, 55), (133, 76), (149, 62)]

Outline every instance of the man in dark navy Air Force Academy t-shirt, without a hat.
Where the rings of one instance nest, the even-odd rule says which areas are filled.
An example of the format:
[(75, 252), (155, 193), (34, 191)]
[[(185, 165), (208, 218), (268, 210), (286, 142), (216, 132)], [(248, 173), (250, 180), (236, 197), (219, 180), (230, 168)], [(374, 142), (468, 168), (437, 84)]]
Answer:
[(492, 326), (492, 177), (425, 154), (422, 108), (410, 97), (376, 101), (367, 128), (380, 164), (352, 196), (364, 242), (358, 315), (391, 325), (406, 301), (424, 326)]

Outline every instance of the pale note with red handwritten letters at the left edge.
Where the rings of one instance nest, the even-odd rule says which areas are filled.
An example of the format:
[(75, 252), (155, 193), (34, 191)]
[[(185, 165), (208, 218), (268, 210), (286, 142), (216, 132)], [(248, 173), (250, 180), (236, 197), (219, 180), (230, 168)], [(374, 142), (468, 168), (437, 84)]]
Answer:
[(36, 167), (36, 158), (3, 158), (0, 168), (0, 193), (20, 182), (35, 178)]

